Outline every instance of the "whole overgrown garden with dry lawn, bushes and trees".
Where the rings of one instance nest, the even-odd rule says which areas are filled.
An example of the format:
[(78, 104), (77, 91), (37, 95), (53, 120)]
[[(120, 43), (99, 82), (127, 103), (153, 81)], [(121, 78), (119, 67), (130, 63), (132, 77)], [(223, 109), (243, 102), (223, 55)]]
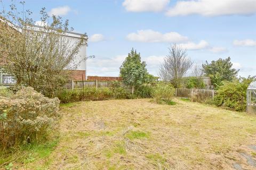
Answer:
[[(256, 168), (256, 116), (245, 113), (255, 77), (238, 77), (230, 57), (196, 66), (172, 44), (154, 77), (132, 48), (113, 87), (66, 89), (86, 35), (71, 45), (68, 20), (42, 8), (42, 22), (52, 22), (33, 30), (10, 7), (0, 13), (0, 64), (16, 84), (0, 88), (0, 168)], [(178, 88), (206, 91), (203, 76), (215, 96), (175, 97)]]

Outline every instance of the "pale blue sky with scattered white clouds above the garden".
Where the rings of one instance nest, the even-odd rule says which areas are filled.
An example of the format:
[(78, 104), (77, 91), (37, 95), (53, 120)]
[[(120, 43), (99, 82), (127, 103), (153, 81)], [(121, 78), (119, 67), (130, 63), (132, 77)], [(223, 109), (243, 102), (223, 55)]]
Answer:
[[(18, 3), (19, 1), (14, 1)], [(10, 1), (3, 0), (4, 6)], [(231, 57), (239, 75), (256, 75), (256, 0), (27, 0), (35, 21), (46, 7), (87, 33), (87, 75), (118, 76), (132, 48), (158, 75), (168, 48), (188, 50), (195, 65)]]

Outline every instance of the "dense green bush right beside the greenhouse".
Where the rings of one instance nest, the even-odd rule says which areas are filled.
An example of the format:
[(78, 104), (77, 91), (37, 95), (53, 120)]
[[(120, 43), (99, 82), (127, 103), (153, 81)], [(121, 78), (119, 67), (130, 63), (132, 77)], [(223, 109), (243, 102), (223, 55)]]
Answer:
[(233, 111), (246, 110), (246, 90), (255, 77), (239, 78), (231, 82), (225, 81), (217, 91), (214, 104)]

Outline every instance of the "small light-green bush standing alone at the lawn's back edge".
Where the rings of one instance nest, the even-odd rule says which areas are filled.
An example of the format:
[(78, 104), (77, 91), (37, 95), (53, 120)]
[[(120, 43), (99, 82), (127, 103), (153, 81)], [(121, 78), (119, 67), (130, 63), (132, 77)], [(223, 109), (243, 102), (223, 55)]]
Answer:
[(175, 94), (175, 89), (169, 83), (158, 83), (155, 86), (153, 97), (157, 103), (161, 103), (161, 101), (165, 101), (168, 103), (172, 100)]

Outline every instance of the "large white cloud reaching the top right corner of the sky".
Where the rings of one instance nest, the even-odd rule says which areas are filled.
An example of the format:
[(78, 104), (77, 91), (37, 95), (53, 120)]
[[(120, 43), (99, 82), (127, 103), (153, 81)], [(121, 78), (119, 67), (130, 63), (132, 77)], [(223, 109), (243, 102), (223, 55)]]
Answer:
[(250, 15), (256, 13), (255, 0), (194, 0), (178, 1), (166, 15), (200, 14), (204, 16), (218, 15)]

